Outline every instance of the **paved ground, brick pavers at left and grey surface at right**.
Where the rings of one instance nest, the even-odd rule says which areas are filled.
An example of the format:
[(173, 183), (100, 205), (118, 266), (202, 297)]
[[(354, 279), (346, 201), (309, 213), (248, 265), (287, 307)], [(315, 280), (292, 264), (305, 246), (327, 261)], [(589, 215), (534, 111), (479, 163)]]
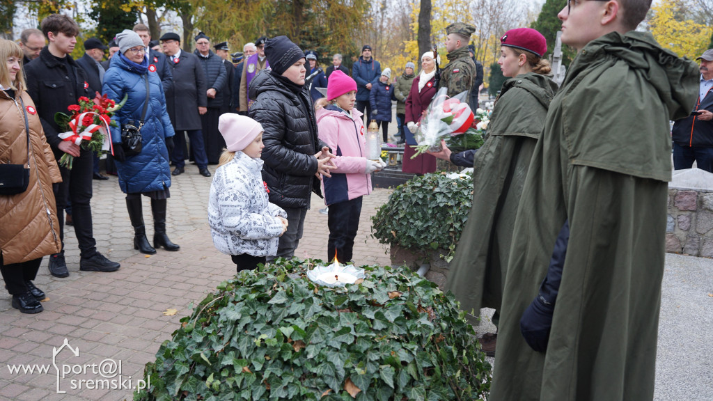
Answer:
[[(188, 165), (185, 174), (173, 179), (173, 197), (168, 200), (168, 233), (181, 245), (175, 253), (158, 250), (146, 256), (133, 250), (133, 230), (116, 177), (93, 182), (98, 249), (122, 266), (115, 273), (80, 272), (76, 240), (69, 228), (70, 276), (53, 278), (45, 260), (35, 281), (49, 298), (43, 313), (23, 315), (11, 308), (9, 295), (0, 294), (0, 401), (130, 400), (132, 390), (127, 386), (138, 385), (143, 366), (155, 359), (159, 345), (190, 313), (191, 304), (235, 274), (230, 257), (212, 245), (206, 211), (211, 178), (200, 176), (195, 166)], [(376, 189), (364, 198), (354, 249), (357, 263), (389, 264), (386, 247), (369, 238), (369, 216), (390, 192)], [(322, 200), (313, 197), (297, 256), (327, 258), (327, 216), (319, 213), (323, 207)], [(144, 215), (151, 235), (148, 199)], [(712, 277), (712, 260), (667, 257), (655, 400), (711, 399)], [(168, 309), (177, 313), (164, 315)], [(480, 332), (489, 329), (487, 322), (478, 327)], [(65, 339), (78, 356), (62, 348)], [(54, 361), (57, 368), (51, 365), (54, 348), (61, 350)], [(112, 362), (120, 364), (116, 376)], [(10, 372), (13, 365), (47, 367), (48, 372)], [(91, 382), (78, 381), (105, 378), (97, 371), (100, 367), (121, 388), (97, 390), (88, 388)], [(59, 378), (56, 369), (61, 371)], [(62, 370), (69, 371), (62, 375)], [(57, 394), (58, 386), (66, 393)]]

